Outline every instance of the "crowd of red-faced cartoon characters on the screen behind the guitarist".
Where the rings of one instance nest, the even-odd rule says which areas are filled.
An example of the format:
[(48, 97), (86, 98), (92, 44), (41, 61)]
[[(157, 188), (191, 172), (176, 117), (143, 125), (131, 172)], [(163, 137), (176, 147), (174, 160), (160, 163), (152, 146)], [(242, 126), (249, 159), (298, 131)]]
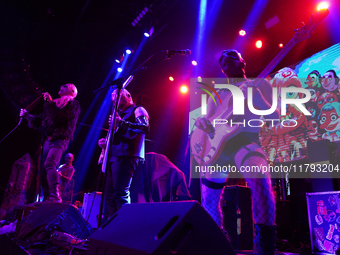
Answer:
[[(310, 62), (306, 63), (310, 65)], [(308, 65), (306, 66), (309, 68)], [(305, 69), (308, 70), (308, 68)], [(322, 76), (319, 70), (311, 69), (312, 71), (305, 74), (308, 75), (305, 79), (303, 78), (306, 76), (298, 77), (295, 71), (289, 67), (282, 68), (274, 76), (271, 76), (272, 86), (278, 88), (278, 107), (281, 106), (283, 96), (280, 92), (281, 88), (303, 87), (311, 94), (311, 99), (304, 104), (311, 115), (305, 116), (295, 105), (288, 105), (287, 114), (280, 116), (280, 122), (284, 121), (284, 126), (278, 123), (271, 127), (262, 127), (260, 141), (263, 149), (267, 152), (268, 160), (287, 162), (307, 157), (308, 140), (340, 140), (340, 81), (337, 75), (338, 71), (336, 71), (340, 70), (340, 66), (324, 68), (322, 68), (324, 73)], [(285, 96), (292, 99), (304, 97), (298, 93), (287, 93)], [(275, 157), (273, 157), (273, 152), (268, 150), (269, 147), (275, 148)]]

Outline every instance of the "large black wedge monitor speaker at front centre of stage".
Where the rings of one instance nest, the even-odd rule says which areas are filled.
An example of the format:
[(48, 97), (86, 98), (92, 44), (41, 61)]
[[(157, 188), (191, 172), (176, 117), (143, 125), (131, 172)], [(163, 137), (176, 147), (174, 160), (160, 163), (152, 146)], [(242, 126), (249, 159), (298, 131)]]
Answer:
[(89, 239), (88, 255), (234, 255), (195, 201), (127, 204)]

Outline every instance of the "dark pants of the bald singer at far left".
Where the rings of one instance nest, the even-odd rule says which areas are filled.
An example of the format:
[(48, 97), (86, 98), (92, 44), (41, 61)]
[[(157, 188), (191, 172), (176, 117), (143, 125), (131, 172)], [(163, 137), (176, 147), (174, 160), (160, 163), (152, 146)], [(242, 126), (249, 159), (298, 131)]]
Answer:
[[(51, 194), (51, 187), (59, 184), (59, 175), (57, 172), (57, 166), (60, 163), (61, 156), (67, 149), (68, 140), (55, 140), (44, 143), (43, 146), (43, 161), (44, 167), (41, 172), (42, 188), (44, 192), (44, 199)], [(52, 194), (55, 195), (55, 194)]]

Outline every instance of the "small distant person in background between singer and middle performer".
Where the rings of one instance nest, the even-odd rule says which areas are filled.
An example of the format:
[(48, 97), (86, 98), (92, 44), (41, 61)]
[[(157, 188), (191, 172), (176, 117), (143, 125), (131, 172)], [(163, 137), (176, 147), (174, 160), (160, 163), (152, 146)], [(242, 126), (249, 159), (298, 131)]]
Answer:
[(68, 196), (66, 196), (65, 191), (67, 190), (68, 185), (70, 181), (72, 180), (72, 177), (75, 171), (72, 165), (73, 160), (74, 160), (73, 154), (67, 153), (65, 155), (65, 164), (59, 166), (57, 170), (59, 174), (59, 180), (60, 180), (59, 192), (60, 192), (60, 197), (62, 198), (63, 201), (65, 200), (65, 198), (66, 200), (68, 198)]

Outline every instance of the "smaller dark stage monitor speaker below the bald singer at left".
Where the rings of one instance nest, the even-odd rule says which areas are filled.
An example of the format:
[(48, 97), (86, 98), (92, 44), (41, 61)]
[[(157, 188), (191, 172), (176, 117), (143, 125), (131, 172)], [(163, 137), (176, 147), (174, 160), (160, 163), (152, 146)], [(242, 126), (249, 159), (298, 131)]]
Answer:
[(26, 242), (48, 239), (55, 231), (65, 232), (80, 239), (88, 238), (93, 229), (71, 204), (40, 204), (17, 226), (16, 238)]

